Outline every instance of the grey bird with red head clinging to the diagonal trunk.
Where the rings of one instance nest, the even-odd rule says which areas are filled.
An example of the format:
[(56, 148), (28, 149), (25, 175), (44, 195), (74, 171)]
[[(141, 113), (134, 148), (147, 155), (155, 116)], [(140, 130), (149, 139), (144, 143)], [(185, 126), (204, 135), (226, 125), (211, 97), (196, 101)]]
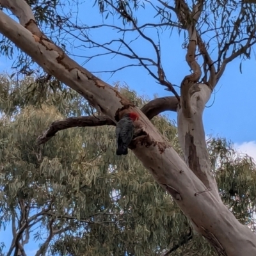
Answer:
[(128, 146), (132, 141), (134, 134), (133, 122), (139, 119), (137, 113), (125, 114), (120, 121), (116, 124), (116, 155), (127, 155)]

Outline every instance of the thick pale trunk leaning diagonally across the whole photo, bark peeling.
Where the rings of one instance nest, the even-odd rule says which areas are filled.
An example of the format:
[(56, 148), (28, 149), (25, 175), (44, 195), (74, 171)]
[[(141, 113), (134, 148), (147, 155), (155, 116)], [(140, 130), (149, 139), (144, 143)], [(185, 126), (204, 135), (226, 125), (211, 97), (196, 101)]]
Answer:
[[(3, 2), (0, 0), (2, 5)], [(8, 1), (8, 3), (14, 2), (25, 3), (23, 0)], [(20, 17), (19, 9), (13, 7), (10, 10)], [(35, 20), (31, 23), (36, 26)], [(22, 25), (26, 26), (26, 24)], [(188, 216), (197, 232), (211, 242), (219, 255), (256, 255), (255, 234), (241, 225), (232, 212), (223, 205), (215, 187), (207, 188), (202, 180), (191, 172), (172, 145), (159, 134), (140, 109), (135, 108), (115, 88), (71, 60), (60, 47), (45, 36), (33, 35), (28, 29), (0, 10), (0, 33), (31, 56), (45, 72), (79, 92), (92, 106), (114, 122), (124, 113), (131, 111), (136, 111), (140, 115), (140, 120), (135, 125), (136, 129), (143, 130), (143, 135), (135, 139), (132, 151), (152, 173), (154, 179), (172, 195), (173, 200)], [(204, 97), (205, 88), (207, 86), (202, 87), (198, 95), (194, 94), (197, 98), (203, 96), (203, 100), (199, 100), (198, 104), (203, 104), (207, 99)], [(207, 168), (205, 172), (209, 174)]]

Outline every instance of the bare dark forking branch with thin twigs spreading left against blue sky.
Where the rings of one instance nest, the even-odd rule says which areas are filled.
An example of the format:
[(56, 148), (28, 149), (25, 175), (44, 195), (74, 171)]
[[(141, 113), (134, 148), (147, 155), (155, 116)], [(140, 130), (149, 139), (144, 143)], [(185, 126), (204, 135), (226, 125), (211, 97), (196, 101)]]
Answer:
[[(83, 47), (86, 47), (86, 48), (89, 48), (89, 49), (97, 47), (97, 48), (102, 48), (102, 49), (108, 51), (107, 53), (95, 54), (93, 56), (90, 56), (90, 57), (88, 57), (89, 60), (92, 60), (92, 58), (95, 58), (97, 56), (102, 56), (102, 55), (106, 55), (106, 54), (115, 54), (115, 55), (124, 56), (126, 58), (131, 59), (131, 60), (138, 60), (138, 62), (139, 62), (138, 64), (136, 64), (136, 65), (127, 65), (126, 67), (141, 66), (141, 67), (145, 68), (147, 70), (148, 74), (150, 74), (150, 76), (152, 76), (154, 79), (156, 79), (156, 81), (159, 84), (161, 84), (163, 86), (166, 86), (166, 88), (168, 88), (168, 91), (172, 92), (175, 95), (175, 97), (177, 97), (177, 99), (180, 100), (179, 94), (173, 88), (173, 84), (170, 83), (170, 81), (168, 81), (166, 79), (166, 75), (164, 73), (164, 69), (163, 69), (162, 63), (161, 63), (160, 44), (159, 43), (156, 44), (154, 42), (154, 40), (152, 40), (152, 38), (148, 37), (143, 32), (143, 29), (148, 28), (149, 26), (152, 27), (152, 28), (156, 28), (156, 29), (159, 28), (159, 27), (161, 28), (161, 26), (170, 26), (170, 25), (172, 25), (173, 27), (179, 28), (179, 24), (175, 24), (175, 22), (166, 22), (166, 23), (163, 23), (163, 24), (148, 23), (148, 24), (144, 24), (142, 26), (137, 26), (137, 22), (132, 17), (132, 10), (131, 10), (131, 8), (129, 8), (129, 6), (127, 6), (127, 5), (124, 6), (124, 4), (122, 4), (121, 2), (118, 2), (118, 6), (115, 6), (115, 4), (112, 3), (112, 1), (105, 0), (105, 2), (108, 3), (109, 6), (111, 6), (113, 8), (113, 10), (115, 10), (117, 13), (119, 13), (120, 16), (123, 17), (124, 20), (126, 20), (129, 23), (132, 23), (133, 28), (132, 29), (124, 29), (124, 28), (119, 28), (117, 26), (112, 26), (112, 25), (108, 25), (108, 24), (92, 26), (92, 27), (77, 26), (77, 24), (71, 24), (72, 28), (76, 28), (76, 29), (79, 29), (79, 31), (81, 31), (80, 35), (83, 35), (85, 40), (82, 40), (77, 35), (74, 35), (74, 33), (68, 31), (67, 29), (65, 29), (65, 31), (69, 35), (72, 35), (75, 38), (77, 38), (78, 40), (81, 40), (83, 42)], [(126, 10), (127, 8), (129, 8), (129, 12)], [(88, 30), (90, 28), (102, 28), (103, 26), (108, 27), (108, 28), (117, 29), (118, 32), (123, 33), (122, 34), (123, 38), (120, 38), (120, 39), (117, 39), (117, 40), (111, 40), (110, 42), (106, 42), (104, 44), (99, 44), (99, 43), (95, 42), (94, 40), (92, 40), (92, 38), (89, 38), (89, 36), (86, 34), (86, 30)], [(67, 24), (67, 27), (70, 27), (70, 24)], [(125, 33), (128, 32), (128, 31), (134, 31), (134, 30), (138, 31), (139, 36), (141, 38), (143, 38), (145, 41), (147, 41), (152, 46), (152, 48), (156, 52), (156, 61), (153, 60), (152, 58), (145, 58), (145, 57), (139, 56), (138, 54), (136, 54), (136, 52), (130, 46), (130, 43), (132, 41), (131, 42), (125, 42), (125, 40), (124, 40)], [(122, 45), (122, 47), (125, 46), (125, 48), (131, 53), (130, 54), (124, 53), (124, 52), (120, 51), (120, 49), (118, 49), (118, 51), (115, 51), (114, 49), (111, 48), (111, 46), (109, 46), (109, 45), (112, 45), (112, 44), (115, 44), (115, 43), (118, 43), (118, 42), (120, 42), (120, 47), (121, 47), (121, 45)], [(86, 43), (90, 43), (90, 45), (86, 46), (85, 45)], [(156, 67), (157, 72), (153, 72), (150, 67)], [(103, 71), (103, 72), (110, 72), (110, 73), (113, 74), (118, 70), (122, 70), (123, 68), (125, 68), (125, 67), (117, 68), (116, 70), (111, 70), (111, 71)]]

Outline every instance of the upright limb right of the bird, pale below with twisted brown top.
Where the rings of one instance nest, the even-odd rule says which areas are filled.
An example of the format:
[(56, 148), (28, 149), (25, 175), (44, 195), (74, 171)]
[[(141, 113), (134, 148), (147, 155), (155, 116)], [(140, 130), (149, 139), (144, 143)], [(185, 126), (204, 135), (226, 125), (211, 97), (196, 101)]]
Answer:
[[(204, 6), (204, 0), (198, 0), (193, 5), (192, 12), (184, 0), (175, 0), (175, 10), (180, 23), (188, 31), (188, 52), (186, 61), (193, 72), (184, 77), (181, 83), (181, 106), (178, 109), (178, 134), (180, 147), (184, 152), (184, 159), (189, 168), (204, 183), (207, 189), (213, 189), (212, 193), (219, 196), (216, 180), (211, 174), (211, 164), (207, 145), (205, 143), (205, 132), (202, 115), (205, 104), (211, 97), (212, 85), (198, 84), (202, 75), (195, 54), (198, 44), (208, 65), (211, 65), (211, 58), (207, 58), (207, 51), (196, 31), (196, 23), (200, 18)], [(198, 42), (199, 39), (199, 42)], [(206, 54), (206, 55), (205, 55)], [(212, 67), (211, 72), (214, 72)], [(214, 78), (214, 77), (213, 77)], [(214, 80), (212, 83), (215, 83)]]

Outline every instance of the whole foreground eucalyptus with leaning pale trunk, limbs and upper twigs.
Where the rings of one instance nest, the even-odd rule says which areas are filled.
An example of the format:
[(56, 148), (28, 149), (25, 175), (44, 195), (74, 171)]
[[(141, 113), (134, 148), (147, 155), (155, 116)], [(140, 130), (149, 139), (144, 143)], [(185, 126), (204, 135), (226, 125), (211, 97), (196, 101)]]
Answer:
[[(81, 126), (81, 123), (84, 127), (115, 125), (122, 115), (136, 111), (140, 115), (140, 120), (136, 123), (136, 138), (130, 148), (158, 184), (172, 195), (173, 200), (192, 223), (193, 229), (204, 236), (219, 255), (255, 255), (255, 234), (239, 223), (221, 200), (215, 175), (212, 172), (202, 122), (205, 104), (228, 63), (237, 57), (250, 58), (252, 45), (256, 42), (255, 5), (240, 1), (225, 3), (203, 0), (196, 2), (175, 0), (173, 3), (161, 0), (157, 0), (156, 3), (148, 1), (160, 19), (154, 24), (140, 24), (140, 17), (136, 17), (136, 12), (140, 9), (137, 1), (104, 0), (98, 3), (100, 12), (109, 12), (114, 17), (122, 18), (125, 28), (116, 27), (116, 29), (123, 31), (124, 36), (113, 42), (124, 45), (128, 54), (119, 51), (120, 47), (111, 48), (109, 45), (112, 41), (103, 44), (95, 42), (86, 31), (79, 31), (86, 29), (86, 26), (71, 23), (68, 16), (58, 15), (54, 7), (56, 4), (61, 6), (61, 1), (0, 1), (3, 8), (3, 11), (0, 11), (0, 32), (4, 36), (3, 42), (6, 42), (1, 52), (12, 54), (12, 47), (8, 47), (12, 42), (29, 56), (28, 60), (18, 62), (23, 65), (18, 66), (20, 71), (25, 74), (33, 72), (30, 64), (35, 61), (47, 73), (46, 81), (51, 80), (52, 76), (56, 77), (82, 95), (90, 106), (100, 113), (100, 117), (92, 115), (55, 122), (38, 138), (38, 142), (45, 143), (59, 130)], [(67, 11), (66, 7), (63, 7), (63, 12)], [(148, 6), (144, 7), (147, 12)], [(20, 23), (8, 16), (8, 12), (4, 10), (12, 12)], [(100, 26), (113, 27), (105, 23)], [(131, 28), (127, 29), (127, 26)], [(184, 46), (191, 74), (180, 82), (180, 92), (177, 92), (167, 79), (161, 63), (160, 45), (145, 34), (144, 29), (147, 26), (156, 29), (177, 28), (178, 31), (186, 34)], [(59, 28), (60, 33), (65, 31), (74, 38), (79, 34), (83, 36), (81, 40), (84, 44), (89, 44), (90, 48), (101, 47), (106, 51), (103, 54), (121, 54), (136, 60), (138, 67), (146, 68), (158, 83), (166, 86), (166, 90), (174, 94), (174, 97), (159, 98), (138, 109), (116, 88), (70, 59), (65, 53), (65, 47), (62, 47), (63, 49), (58, 47), (56, 45), (58, 41), (55, 44), (53, 39), (48, 38), (40, 30), (40, 27), (45, 27), (45, 31)], [(74, 29), (79, 33), (72, 33)], [(151, 44), (155, 58), (143, 57), (136, 53), (129, 42), (125, 41), (126, 31), (132, 31)], [(215, 47), (211, 45), (212, 38), (218, 42), (215, 54), (210, 54)], [(65, 46), (63, 42), (60, 44)], [(18, 61), (24, 60), (25, 56), (22, 54), (20, 56)], [(150, 122), (153, 116), (167, 110), (177, 112), (182, 157), (175, 151), (173, 142), (168, 141), (166, 136), (163, 136)]]

